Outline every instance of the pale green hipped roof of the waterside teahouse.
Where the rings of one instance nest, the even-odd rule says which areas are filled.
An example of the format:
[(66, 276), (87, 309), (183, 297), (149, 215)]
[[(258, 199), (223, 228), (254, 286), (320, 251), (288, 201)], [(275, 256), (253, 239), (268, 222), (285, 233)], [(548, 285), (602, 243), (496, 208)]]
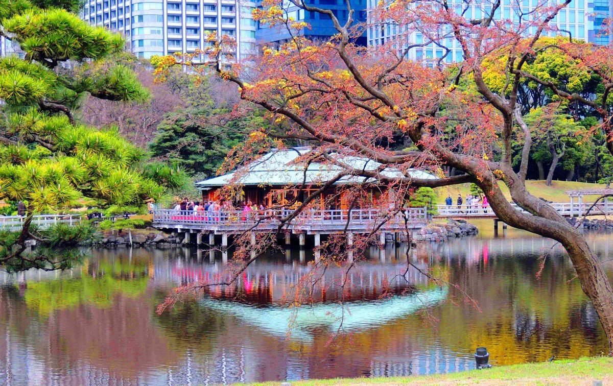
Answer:
[[(289, 149), (273, 149), (270, 153), (265, 154), (256, 162), (249, 166), (248, 172), (241, 173), (235, 183), (243, 185), (267, 185), (267, 186), (285, 186), (298, 185), (303, 181), (306, 184), (325, 183), (333, 178), (338, 172), (343, 170), (342, 167), (332, 164), (321, 164), (320, 162), (311, 162), (305, 173), (305, 165), (296, 163), (292, 164), (295, 159), (311, 151), (311, 148), (289, 148)], [(351, 165), (351, 167), (363, 170), (375, 170), (381, 164), (371, 159), (354, 156), (340, 156), (337, 154), (337, 159), (340, 162)], [(400, 170), (394, 170), (389, 167), (381, 172), (382, 175), (389, 177), (402, 177)], [(425, 180), (433, 180), (437, 177), (428, 172), (423, 172), (417, 169), (409, 169), (409, 176)], [(305, 179), (306, 176), (306, 179)], [(224, 186), (235, 177), (235, 172), (226, 175), (209, 178), (208, 180), (196, 183), (196, 187), (200, 190), (208, 190), (211, 187)], [(372, 180), (372, 179), (370, 179)], [(364, 177), (346, 176), (337, 181), (336, 184), (347, 183), (364, 183)]]

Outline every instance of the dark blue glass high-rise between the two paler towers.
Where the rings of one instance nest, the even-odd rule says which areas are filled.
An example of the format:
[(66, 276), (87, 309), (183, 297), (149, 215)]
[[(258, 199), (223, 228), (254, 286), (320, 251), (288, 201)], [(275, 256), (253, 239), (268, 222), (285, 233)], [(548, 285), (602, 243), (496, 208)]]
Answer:
[[(354, 10), (354, 23), (364, 23), (366, 21), (366, 1), (367, 0), (350, 0), (351, 9)], [(345, 0), (307, 0), (308, 5), (330, 9), (341, 23), (346, 23), (348, 18), (348, 10)], [(334, 29), (332, 20), (328, 15), (308, 12), (299, 9), (295, 6), (286, 8), (287, 17), (294, 18), (296, 21), (304, 21), (311, 26), (311, 29), (304, 28), (301, 32), (304, 36), (313, 40), (327, 40), (338, 31)], [(256, 41), (258, 44), (275, 44), (284, 42), (289, 39), (289, 33), (277, 27), (261, 25), (258, 22), (256, 30)], [(366, 32), (363, 31), (359, 37), (356, 37), (355, 42), (359, 45), (366, 45)]]

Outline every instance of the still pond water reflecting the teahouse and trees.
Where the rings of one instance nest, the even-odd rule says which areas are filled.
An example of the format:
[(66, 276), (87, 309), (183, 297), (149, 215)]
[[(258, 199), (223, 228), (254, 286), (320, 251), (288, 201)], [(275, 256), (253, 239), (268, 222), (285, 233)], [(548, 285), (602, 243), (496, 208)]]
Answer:
[[(588, 234), (602, 260), (613, 259), (611, 236)], [(308, 275), (308, 251), (271, 254), (237, 286), (210, 290), (162, 316), (156, 306), (170, 289), (223, 274), (221, 255), (99, 249), (63, 273), (0, 273), (0, 385), (401, 376), (474, 368), (478, 346), (487, 346), (494, 365), (606, 349), (568, 258), (550, 240), (509, 230), (503, 238), (427, 244), (409, 256), (460, 286), (478, 307), (415, 268), (400, 280), (403, 246), (368, 251), (349, 276), (330, 268), (314, 303), (298, 309), (286, 303)]]

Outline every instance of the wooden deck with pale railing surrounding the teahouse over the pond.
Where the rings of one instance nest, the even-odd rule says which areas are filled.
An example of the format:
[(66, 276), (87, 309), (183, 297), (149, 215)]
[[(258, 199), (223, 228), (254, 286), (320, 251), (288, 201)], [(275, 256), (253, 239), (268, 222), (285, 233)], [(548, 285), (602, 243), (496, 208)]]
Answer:
[[(153, 227), (158, 229), (173, 229), (184, 232), (186, 230), (204, 230), (216, 234), (240, 233), (253, 229), (256, 233), (275, 232), (292, 210), (262, 210), (249, 212), (242, 211), (153, 211)], [(387, 213), (378, 209), (356, 210), (308, 210), (299, 213), (289, 222), (287, 229), (292, 233), (337, 233), (343, 230), (348, 232), (368, 232), (380, 224)], [(406, 211), (406, 222), (411, 229), (423, 227), (427, 223), (425, 208), (411, 208)], [(405, 226), (405, 218), (397, 214), (381, 227), (381, 232), (399, 232)]]

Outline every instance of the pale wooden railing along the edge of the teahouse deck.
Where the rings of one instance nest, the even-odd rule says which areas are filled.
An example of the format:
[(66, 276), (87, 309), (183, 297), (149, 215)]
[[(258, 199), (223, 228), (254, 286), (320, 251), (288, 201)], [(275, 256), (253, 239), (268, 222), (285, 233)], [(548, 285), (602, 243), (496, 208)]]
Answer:
[[(278, 225), (281, 219), (287, 218), (292, 210), (260, 210), (243, 213), (243, 211), (177, 211), (154, 210), (154, 224), (187, 224), (187, 225)], [(398, 213), (391, 218), (397, 221), (425, 222), (427, 211), (425, 208), (408, 208), (405, 214)], [(302, 225), (343, 225), (343, 224), (369, 224), (388, 218), (386, 211), (379, 209), (354, 210), (306, 210), (301, 211), (291, 224)]]

